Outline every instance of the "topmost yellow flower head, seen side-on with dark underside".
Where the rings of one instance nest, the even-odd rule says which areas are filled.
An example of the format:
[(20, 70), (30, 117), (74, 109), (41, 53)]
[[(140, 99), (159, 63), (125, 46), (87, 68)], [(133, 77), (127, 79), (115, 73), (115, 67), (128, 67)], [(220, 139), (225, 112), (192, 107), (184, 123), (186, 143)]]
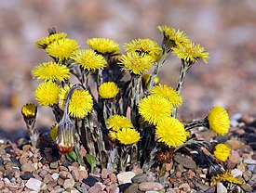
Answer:
[(176, 31), (174, 28), (166, 25), (161, 25), (157, 28), (164, 34), (164, 43), (168, 44), (168, 47), (182, 46), (190, 43), (186, 34), (180, 30)]

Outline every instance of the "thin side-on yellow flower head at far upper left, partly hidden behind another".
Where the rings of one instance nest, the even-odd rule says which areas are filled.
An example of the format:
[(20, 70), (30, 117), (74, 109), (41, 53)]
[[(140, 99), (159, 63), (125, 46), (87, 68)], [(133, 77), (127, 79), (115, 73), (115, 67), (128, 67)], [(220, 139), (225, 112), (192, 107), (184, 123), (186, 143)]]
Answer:
[(65, 38), (66, 36), (67, 36), (67, 34), (64, 32), (52, 33), (47, 37), (37, 40), (35, 45), (38, 48), (46, 49), (49, 44), (53, 43), (56, 40), (61, 40), (61, 39)]

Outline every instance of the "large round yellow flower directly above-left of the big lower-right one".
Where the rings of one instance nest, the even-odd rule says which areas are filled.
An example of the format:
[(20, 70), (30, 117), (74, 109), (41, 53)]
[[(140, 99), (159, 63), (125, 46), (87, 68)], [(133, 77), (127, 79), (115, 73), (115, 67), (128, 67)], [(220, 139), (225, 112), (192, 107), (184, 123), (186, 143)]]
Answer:
[(139, 113), (142, 118), (152, 124), (157, 124), (164, 117), (169, 117), (172, 108), (168, 99), (162, 96), (147, 96), (139, 103)]

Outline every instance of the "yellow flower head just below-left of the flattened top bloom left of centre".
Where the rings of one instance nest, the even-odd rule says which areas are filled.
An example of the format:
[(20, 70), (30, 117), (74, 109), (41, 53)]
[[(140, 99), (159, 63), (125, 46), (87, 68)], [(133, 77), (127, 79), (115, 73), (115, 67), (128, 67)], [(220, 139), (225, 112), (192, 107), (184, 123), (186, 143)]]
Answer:
[(74, 59), (74, 63), (80, 64), (85, 71), (101, 70), (107, 65), (107, 61), (101, 55), (88, 49), (75, 50), (71, 58)]

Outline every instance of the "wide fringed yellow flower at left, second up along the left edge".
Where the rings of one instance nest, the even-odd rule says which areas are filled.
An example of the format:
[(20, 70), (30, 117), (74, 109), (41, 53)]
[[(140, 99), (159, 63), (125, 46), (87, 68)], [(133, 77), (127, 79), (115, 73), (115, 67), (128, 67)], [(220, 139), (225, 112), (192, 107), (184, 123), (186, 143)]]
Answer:
[(33, 77), (37, 77), (37, 80), (44, 81), (65, 81), (70, 79), (69, 69), (61, 64), (55, 62), (47, 62), (39, 64), (32, 71)]

